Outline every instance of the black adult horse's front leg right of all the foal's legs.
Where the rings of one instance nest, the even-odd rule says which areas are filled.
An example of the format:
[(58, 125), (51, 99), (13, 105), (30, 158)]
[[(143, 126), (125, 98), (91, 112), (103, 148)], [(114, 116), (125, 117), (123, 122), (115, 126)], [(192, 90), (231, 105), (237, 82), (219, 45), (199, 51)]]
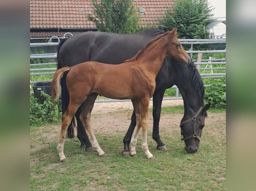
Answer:
[(152, 137), (156, 141), (158, 150), (167, 151), (166, 146), (159, 136), (159, 121), (161, 115), (161, 106), (165, 90), (155, 91), (153, 95), (153, 134)]

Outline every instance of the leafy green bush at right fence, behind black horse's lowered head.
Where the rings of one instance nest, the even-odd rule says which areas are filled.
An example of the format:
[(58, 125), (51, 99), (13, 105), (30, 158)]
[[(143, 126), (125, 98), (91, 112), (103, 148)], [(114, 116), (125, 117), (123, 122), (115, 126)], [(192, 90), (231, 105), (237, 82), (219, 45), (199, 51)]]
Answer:
[(205, 88), (205, 104), (211, 103), (213, 108), (226, 107), (226, 87), (223, 87), (223, 79), (212, 80), (212, 87)]

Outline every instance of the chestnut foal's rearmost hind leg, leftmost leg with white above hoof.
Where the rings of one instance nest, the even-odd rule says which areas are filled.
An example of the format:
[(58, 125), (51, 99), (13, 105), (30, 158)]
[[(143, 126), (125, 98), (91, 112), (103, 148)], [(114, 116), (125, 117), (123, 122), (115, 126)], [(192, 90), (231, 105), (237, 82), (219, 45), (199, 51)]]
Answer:
[(59, 154), (59, 159), (60, 161), (64, 161), (66, 159), (66, 156), (64, 155), (63, 149), (64, 149), (64, 142), (65, 142), (65, 137), (67, 133), (68, 126), (75, 115), (77, 108), (80, 105), (72, 104), (72, 102), (69, 103), (69, 106), (65, 113), (62, 115), (61, 119), (61, 131), (60, 131), (60, 136), (59, 136), (59, 142), (57, 145), (57, 151)]

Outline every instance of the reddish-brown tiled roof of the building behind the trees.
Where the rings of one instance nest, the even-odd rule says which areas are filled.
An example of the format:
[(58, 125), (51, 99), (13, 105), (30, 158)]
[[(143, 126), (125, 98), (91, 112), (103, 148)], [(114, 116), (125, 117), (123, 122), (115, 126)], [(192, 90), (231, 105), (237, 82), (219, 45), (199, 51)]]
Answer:
[[(144, 8), (139, 24), (157, 24), (166, 7), (175, 0), (134, 0), (138, 10)], [(82, 9), (81, 9), (82, 8)], [(87, 14), (92, 14), (90, 0), (30, 0), (30, 28), (96, 28), (88, 21)]]

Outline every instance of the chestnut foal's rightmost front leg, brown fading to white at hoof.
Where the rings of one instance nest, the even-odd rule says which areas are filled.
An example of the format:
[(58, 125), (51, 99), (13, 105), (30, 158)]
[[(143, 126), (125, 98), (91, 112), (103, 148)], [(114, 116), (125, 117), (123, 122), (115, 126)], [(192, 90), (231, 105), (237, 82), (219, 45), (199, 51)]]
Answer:
[(141, 148), (144, 150), (147, 158), (155, 158), (148, 149), (147, 144), (147, 129), (148, 129), (148, 106), (149, 106), (149, 98), (146, 97), (139, 102), (140, 107), (140, 115), (141, 115), (141, 128), (142, 128), (142, 143)]

